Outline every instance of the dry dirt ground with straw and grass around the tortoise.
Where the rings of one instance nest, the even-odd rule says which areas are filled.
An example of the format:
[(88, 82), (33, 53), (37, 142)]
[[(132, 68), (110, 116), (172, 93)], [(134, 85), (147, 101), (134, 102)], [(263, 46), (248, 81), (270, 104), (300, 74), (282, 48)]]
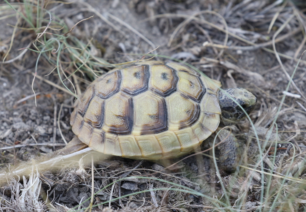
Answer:
[[(0, 3), (0, 211), (85, 211), (91, 200), (91, 210), (105, 212), (306, 210), (306, 56), (298, 63), (306, 50), (303, 1)], [(45, 34), (36, 39), (39, 32)], [(57, 41), (60, 54), (53, 50)], [(103, 61), (124, 63), (147, 53), (183, 60), (223, 88), (256, 95), (250, 118), (257, 133), (248, 119), (231, 128), (245, 147), (237, 170), (215, 169), (203, 155), (173, 170), (119, 157), (91, 164), (89, 156), (39, 172), (32, 166), (31, 174), (5, 174), (3, 180), (17, 164), (34, 164), (64, 147), (63, 138), (73, 138), (75, 97), (64, 85), (73, 91), (73, 84), (80, 95), (95, 79), (90, 70), (100, 75), (111, 69)], [(71, 81), (61, 82), (59, 76), (76, 69)]]

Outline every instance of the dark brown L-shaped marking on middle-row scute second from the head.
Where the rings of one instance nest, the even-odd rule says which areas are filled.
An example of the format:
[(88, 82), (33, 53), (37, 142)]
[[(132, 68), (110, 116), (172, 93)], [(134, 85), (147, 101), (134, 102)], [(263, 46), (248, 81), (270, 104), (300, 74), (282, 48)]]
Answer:
[(158, 120), (157, 123), (144, 125), (140, 135), (155, 134), (168, 130), (168, 111), (165, 99), (159, 102), (158, 108), (158, 115), (149, 115), (151, 119)]

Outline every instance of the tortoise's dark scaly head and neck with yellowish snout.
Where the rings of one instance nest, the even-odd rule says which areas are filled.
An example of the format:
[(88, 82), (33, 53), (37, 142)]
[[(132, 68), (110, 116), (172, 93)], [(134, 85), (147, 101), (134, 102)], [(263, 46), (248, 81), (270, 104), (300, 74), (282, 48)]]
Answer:
[(219, 104), (222, 113), (220, 121), (221, 125), (225, 126), (237, 124), (238, 121), (246, 117), (241, 107), (229, 96), (235, 99), (248, 114), (255, 108), (257, 102), (256, 97), (242, 87), (220, 90)]

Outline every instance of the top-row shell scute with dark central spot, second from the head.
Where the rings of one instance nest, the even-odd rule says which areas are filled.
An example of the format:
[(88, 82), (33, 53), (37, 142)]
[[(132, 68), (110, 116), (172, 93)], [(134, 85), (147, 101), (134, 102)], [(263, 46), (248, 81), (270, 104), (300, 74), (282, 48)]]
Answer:
[(165, 65), (151, 65), (151, 89), (165, 97), (176, 90), (177, 74)]

